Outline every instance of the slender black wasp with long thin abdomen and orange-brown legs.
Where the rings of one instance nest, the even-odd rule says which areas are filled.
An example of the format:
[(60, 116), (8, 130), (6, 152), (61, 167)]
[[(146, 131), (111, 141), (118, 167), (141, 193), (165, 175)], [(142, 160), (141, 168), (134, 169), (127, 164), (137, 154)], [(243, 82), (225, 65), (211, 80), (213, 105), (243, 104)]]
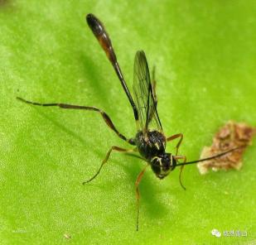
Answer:
[[(37, 103), (28, 101), (20, 97), (17, 98), (22, 102), (30, 103), (37, 106), (56, 106), (65, 109), (82, 109), (100, 113), (101, 116), (104, 118), (104, 122), (107, 123), (107, 125), (118, 135), (118, 137), (120, 137), (122, 140), (128, 142), (128, 144), (133, 146), (133, 149), (124, 149), (116, 146), (111, 147), (107, 152), (107, 155), (105, 156), (104, 160), (102, 161), (101, 166), (99, 166), (99, 170), (96, 172), (96, 174), (89, 180), (83, 182), (83, 184), (89, 183), (91, 180), (94, 180), (96, 176), (99, 175), (99, 172), (102, 170), (102, 167), (109, 160), (109, 156), (112, 153), (112, 151), (118, 151), (123, 153), (138, 152), (140, 154), (140, 158), (147, 162), (147, 165), (144, 166), (142, 171), (138, 174), (137, 180), (135, 181), (137, 203), (136, 227), (138, 230), (140, 199), (138, 186), (148, 166), (151, 166), (152, 171), (157, 175), (159, 179), (165, 178), (177, 166), (181, 167), (179, 181), (181, 187), (184, 190), (186, 190), (185, 186), (182, 185), (181, 182), (181, 173), (184, 166), (194, 164), (199, 161), (207, 161), (215, 157), (223, 156), (229, 153), (230, 151), (234, 151), (236, 148), (220, 153), (219, 155), (211, 156), (197, 161), (187, 162), (186, 156), (179, 156), (178, 151), (179, 147), (181, 146), (183, 135), (182, 133), (177, 133), (175, 135), (172, 135), (171, 137), (166, 137), (163, 133), (162, 123), (157, 113), (156, 80), (154, 78), (153, 72), (151, 82), (150, 73), (147, 65), (147, 59), (144, 51), (140, 50), (135, 55), (133, 67), (133, 100), (133, 96), (131, 95), (128, 86), (123, 78), (123, 74), (118, 65), (118, 60), (115, 55), (114, 48), (110, 41), (109, 35), (104, 28), (104, 25), (102, 24), (102, 22), (99, 21), (97, 17), (95, 17), (91, 13), (87, 15), (86, 20), (89, 25), (89, 28), (91, 29), (91, 31), (93, 31), (94, 36), (98, 39), (100, 46), (104, 49), (107, 57), (109, 58), (109, 61), (113, 65), (114, 70), (118, 75), (118, 79), (120, 80), (123, 86), (123, 90), (128, 97), (129, 103), (133, 108), (133, 114), (137, 125), (137, 134), (135, 135), (135, 137), (128, 138), (125, 137), (122, 133), (118, 132), (118, 129), (114, 126), (114, 123), (109, 118), (109, 115), (105, 113), (103, 110), (96, 107), (80, 106), (66, 103)], [(165, 151), (167, 142), (171, 142), (174, 139), (179, 139), (179, 141), (176, 144), (176, 153), (167, 153)]]

